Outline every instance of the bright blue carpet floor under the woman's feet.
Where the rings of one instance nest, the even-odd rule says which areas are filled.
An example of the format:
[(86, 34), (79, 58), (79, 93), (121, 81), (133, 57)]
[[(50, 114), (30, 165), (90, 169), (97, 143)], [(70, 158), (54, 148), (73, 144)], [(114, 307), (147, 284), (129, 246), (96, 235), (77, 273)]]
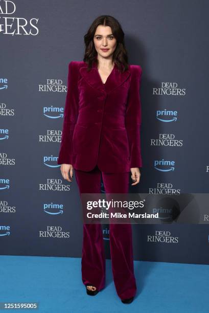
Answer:
[(0, 265), (0, 302), (39, 303), (38, 310), (10, 312), (209, 312), (208, 265), (134, 261), (137, 293), (131, 304), (115, 292), (110, 260), (106, 287), (95, 297), (86, 295), (80, 258), (0, 256)]

